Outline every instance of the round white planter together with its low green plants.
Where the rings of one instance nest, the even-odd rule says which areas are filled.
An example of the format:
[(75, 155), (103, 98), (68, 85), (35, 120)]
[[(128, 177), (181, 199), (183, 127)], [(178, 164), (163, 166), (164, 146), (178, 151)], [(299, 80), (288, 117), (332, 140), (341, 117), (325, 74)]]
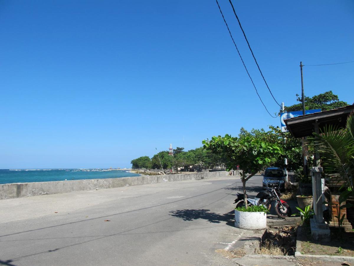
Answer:
[(245, 206), (235, 208), (235, 227), (247, 230), (265, 229), (267, 227), (267, 212), (263, 206)]

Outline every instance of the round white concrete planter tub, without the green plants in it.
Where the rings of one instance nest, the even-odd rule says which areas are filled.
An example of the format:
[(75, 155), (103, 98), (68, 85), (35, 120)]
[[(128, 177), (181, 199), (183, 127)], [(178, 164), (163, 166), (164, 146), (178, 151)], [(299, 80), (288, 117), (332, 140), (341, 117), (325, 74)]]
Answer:
[(235, 227), (246, 230), (265, 229), (267, 227), (267, 214), (263, 211), (235, 210)]

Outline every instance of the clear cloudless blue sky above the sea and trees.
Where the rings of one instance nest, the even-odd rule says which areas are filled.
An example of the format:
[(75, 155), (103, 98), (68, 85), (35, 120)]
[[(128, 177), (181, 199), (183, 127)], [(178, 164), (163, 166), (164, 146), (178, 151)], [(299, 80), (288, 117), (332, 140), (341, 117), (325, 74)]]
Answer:
[[(227, 0), (225, 18), (271, 112)], [(233, 1), (276, 100), (295, 104), (304, 65), (354, 61), (354, 2)], [(265, 112), (215, 1), (0, 0), (0, 168), (127, 167)], [(304, 67), (307, 96), (354, 102), (354, 63)], [(184, 141), (183, 141), (184, 139)]]

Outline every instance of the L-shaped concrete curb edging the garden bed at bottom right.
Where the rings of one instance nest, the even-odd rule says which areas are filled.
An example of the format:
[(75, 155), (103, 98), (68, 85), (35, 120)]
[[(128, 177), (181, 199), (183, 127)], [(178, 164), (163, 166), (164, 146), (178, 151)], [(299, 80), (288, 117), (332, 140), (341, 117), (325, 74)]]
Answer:
[(308, 260), (320, 260), (320, 261), (328, 261), (328, 262), (343, 262), (347, 261), (350, 263), (354, 263), (354, 257), (349, 256), (332, 256), (332, 255), (309, 255), (309, 254), (301, 254), (301, 242), (302, 239), (302, 227), (299, 226), (297, 228), (296, 235), (296, 251), (295, 257), (299, 259), (308, 259)]

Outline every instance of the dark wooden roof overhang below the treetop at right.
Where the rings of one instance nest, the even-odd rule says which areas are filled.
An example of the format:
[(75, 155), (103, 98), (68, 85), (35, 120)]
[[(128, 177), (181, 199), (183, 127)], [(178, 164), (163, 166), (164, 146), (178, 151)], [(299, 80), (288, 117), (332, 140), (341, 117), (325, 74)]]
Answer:
[(346, 127), (347, 117), (352, 112), (354, 112), (354, 105), (347, 105), (338, 109), (289, 118), (284, 122), (291, 135), (302, 138), (312, 135), (314, 123), (318, 123), (322, 130), (329, 125)]

